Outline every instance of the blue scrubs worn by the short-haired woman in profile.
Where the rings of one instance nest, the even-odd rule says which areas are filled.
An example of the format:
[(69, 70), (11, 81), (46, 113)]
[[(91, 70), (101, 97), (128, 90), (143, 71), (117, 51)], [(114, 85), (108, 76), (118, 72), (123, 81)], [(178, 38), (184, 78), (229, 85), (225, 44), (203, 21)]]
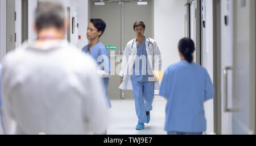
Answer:
[[(86, 45), (84, 48), (82, 48), (82, 51), (85, 53), (88, 53), (89, 47), (90, 47), (90, 44)], [(98, 42), (90, 49), (89, 54), (96, 60), (98, 66), (103, 65), (101, 68), (102, 70), (105, 70), (105, 72), (109, 72), (109, 73), (111, 72), (109, 52), (106, 49), (104, 44), (102, 44), (101, 42)], [(101, 56), (104, 56), (104, 58), (102, 58), (103, 60), (98, 61), (98, 57), (101, 57)], [(106, 59), (108, 59), (108, 61), (105, 61)], [(108, 66), (108, 68), (105, 68), (104, 66)], [(103, 78), (102, 80), (104, 83), (105, 94), (106, 94), (106, 97), (108, 98), (107, 101), (108, 101), (109, 107), (111, 107), (109, 94), (108, 94), (109, 78)]]

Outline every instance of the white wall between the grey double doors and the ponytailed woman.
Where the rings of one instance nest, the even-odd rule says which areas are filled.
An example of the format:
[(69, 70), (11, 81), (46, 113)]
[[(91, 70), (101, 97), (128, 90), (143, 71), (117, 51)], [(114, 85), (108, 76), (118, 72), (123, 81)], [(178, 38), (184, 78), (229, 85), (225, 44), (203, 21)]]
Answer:
[(185, 13), (184, 1), (154, 1), (154, 39), (162, 53), (163, 71), (180, 61), (177, 45), (185, 36)]

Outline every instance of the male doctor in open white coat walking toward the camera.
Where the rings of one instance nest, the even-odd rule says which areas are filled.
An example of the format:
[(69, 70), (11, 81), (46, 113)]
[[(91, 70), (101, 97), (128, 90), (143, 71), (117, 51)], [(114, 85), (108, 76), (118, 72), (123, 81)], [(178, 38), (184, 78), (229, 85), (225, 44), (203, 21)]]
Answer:
[(153, 71), (160, 71), (161, 53), (156, 41), (144, 36), (145, 24), (134, 23), (137, 38), (129, 41), (123, 54), (120, 76), (122, 90), (133, 90), (135, 109), (138, 116), (136, 130), (143, 130), (144, 123), (150, 122), (150, 111), (154, 99), (154, 90), (159, 90), (159, 81)]

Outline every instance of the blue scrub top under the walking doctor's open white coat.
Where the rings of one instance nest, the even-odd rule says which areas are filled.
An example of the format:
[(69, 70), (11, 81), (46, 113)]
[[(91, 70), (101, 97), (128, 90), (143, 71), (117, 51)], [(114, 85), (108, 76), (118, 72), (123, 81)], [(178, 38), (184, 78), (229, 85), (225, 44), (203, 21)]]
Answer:
[[(133, 65), (133, 75), (131, 76), (132, 82), (148, 82), (148, 77), (152, 77), (148, 75), (148, 57), (146, 50), (146, 37), (144, 37), (143, 42), (139, 45), (137, 42), (137, 56), (135, 62), (139, 62), (139, 64), (134, 63)], [(145, 57), (143, 57), (143, 56)], [(145, 70), (146, 69), (146, 70)], [(150, 68), (151, 70), (151, 68)]]

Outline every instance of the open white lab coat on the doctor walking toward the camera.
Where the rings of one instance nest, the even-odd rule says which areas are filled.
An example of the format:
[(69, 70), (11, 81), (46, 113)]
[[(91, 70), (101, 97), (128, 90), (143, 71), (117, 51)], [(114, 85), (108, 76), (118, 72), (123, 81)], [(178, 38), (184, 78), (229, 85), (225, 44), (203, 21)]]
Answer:
[[(146, 36), (145, 36), (146, 37)], [(149, 40), (148, 40), (149, 39)], [(150, 44), (150, 42), (153, 44)], [(150, 44), (148, 46), (148, 44)], [(133, 46), (133, 48), (132, 48)], [(161, 52), (156, 44), (156, 41), (146, 37), (146, 51), (150, 67), (154, 71), (160, 71), (162, 68)], [(133, 65), (137, 56), (136, 40), (131, 40), (127, 43), (125, 52), (123, 53), (123, 60), (121, 64), (120, 76), (123, 77), (123, 82), (119, 86), (122, 90), (133, 90), (131, 84), (131, 73), (133, 73)], [(155, 82), (155, 90), (159, 90), (159, 80)]]

